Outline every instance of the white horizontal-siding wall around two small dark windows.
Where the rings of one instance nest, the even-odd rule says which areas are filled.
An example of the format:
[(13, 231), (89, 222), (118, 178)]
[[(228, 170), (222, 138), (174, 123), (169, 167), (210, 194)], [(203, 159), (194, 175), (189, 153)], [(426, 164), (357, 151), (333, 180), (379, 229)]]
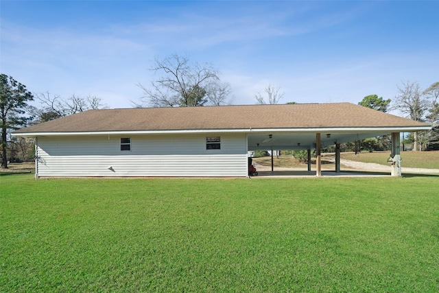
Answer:
[[(208, 136), (221, 137), (220, 150), (206, 150)], [(248, 175), (246, 134), (38, 137), (37, 156), (40, 177)]]

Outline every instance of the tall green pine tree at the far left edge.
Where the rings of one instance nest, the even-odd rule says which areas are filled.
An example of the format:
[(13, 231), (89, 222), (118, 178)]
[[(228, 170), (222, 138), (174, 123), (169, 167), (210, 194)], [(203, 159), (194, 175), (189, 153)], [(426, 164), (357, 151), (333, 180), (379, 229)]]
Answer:
[(6, 150), (8, 148), (8, 131), (25, 126), (29, 117), (23, 116), (27, 102), (34, 100), (26, 86), (5, 74), (0, 75), (0, 126), (1, 126), (1, 165), (8, 168)]

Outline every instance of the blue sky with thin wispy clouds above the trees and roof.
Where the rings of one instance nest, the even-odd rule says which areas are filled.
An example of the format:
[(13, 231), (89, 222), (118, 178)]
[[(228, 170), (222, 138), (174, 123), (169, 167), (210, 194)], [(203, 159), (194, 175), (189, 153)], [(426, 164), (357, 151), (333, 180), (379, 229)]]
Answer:
[(1, 73), (130, 108), (155, 58), (209, 62), (234, 104), (393, 99), (439, 81), (439, 1), (1, 1)]

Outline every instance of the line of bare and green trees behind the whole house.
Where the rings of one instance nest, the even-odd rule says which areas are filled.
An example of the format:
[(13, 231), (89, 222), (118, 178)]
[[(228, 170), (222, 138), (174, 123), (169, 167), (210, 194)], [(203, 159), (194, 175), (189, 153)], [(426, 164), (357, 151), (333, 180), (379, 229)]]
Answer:
[[(164, 59), (156, 58), (150, 70), (154, 73), (154, 79), (147, 86), (137, 84), (143, 96), (139, 102), (132, 102), (133, 107), (233, 104), (230, 84), (220, 80), (218, 69), (211, 64), (201, 65), (191, 62), (186, 56), (173, 54)], [(4, 168), (8, 167), (8, 159), (32, 161), (34, 156), (33, 141), (12, 137), (12, 130), (84, 110), (107, 108), (100, 97), (93, 95), (71, 95), (66, 99), (49, 92), (31, 93), (25, 85), (3, 73), (0, 75), (0, 86), (1, 167)], [(359, 105), (383, 112), (398, 110), (405, 117), (431, 124), (431, 130), (409, 134), (403, 141), (412, 143), (414, 150), (439, 150), (439, 82), (431, 84), (427, 89), (421, 89), (417, 82), (402, 82), (397, 86), (396, 93), (392, 104), (391, 99), (368, 95)], [(256, 104), (278, 104), (284, 95), (280, 86), (269, 84), (263, 94), (257, 93), (254, 98)], [(29, 104), (34, 100), (40, 102), (40, 107)], [(363, 148), (370, 150), (388, 149), (389, 143), (388, 137), (362, 141)], [(346, 150), (351, 147), (346, 145)]]

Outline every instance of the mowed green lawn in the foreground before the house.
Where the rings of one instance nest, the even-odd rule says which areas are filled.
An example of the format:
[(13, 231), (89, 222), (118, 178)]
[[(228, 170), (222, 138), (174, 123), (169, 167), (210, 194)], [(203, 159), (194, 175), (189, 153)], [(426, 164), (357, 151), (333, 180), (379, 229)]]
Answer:
[(0, 292), (438, 292), (439, 177), (0, 178)]

